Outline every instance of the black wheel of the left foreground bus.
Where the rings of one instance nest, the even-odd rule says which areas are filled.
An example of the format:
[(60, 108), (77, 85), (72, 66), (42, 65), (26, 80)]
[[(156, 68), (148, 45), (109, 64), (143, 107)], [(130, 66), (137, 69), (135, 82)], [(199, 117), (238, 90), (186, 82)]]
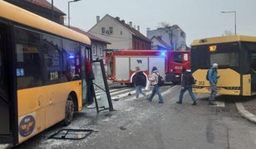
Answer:
[(71, 123), (74, 112), (75, 112), (75, 105), (71, 95), (69, 95), (68, 99), (66, 100), (65, 119), (63, 121), (64, 126), (67, 126)]

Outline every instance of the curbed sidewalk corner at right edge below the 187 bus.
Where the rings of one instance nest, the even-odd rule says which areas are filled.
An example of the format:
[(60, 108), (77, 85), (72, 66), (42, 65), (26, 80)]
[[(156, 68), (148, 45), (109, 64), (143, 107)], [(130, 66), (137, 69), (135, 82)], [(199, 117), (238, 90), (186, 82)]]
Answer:
[(256, 99), (235, 103), (239, 113), (249, 121), (256, 123)]

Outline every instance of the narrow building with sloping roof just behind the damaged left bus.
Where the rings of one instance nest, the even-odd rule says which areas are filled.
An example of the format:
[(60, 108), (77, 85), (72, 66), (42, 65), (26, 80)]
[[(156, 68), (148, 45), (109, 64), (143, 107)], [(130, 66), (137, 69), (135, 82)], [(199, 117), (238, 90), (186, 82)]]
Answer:
[(106, 46), (107, 44), (111, 44), (108, 41), (105, 41), (97, 36), (92, 35), (89, 32), (83, 31), (80, 28), (71, 26), (72, 30), (80, 32), (81, 34), (84, 34), (88, 36), (91, 39), (91, 51), (92, 51), (92, 59), (105, 59), (106, 56)]

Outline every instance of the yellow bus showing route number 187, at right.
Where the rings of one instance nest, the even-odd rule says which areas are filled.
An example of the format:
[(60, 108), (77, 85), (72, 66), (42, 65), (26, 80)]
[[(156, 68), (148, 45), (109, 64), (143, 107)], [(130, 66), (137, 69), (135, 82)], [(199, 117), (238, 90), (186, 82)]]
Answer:
[(251, 96), (256, 91), (256, 37), (220, 36), (193, 41), (194, 93), (209, 93), (207, 70), (217, 63), (219, 94)]

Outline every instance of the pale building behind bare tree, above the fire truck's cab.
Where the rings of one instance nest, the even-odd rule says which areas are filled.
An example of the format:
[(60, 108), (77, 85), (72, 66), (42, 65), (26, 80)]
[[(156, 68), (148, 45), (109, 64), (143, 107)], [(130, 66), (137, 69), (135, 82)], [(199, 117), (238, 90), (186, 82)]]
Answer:
[(147, 28), (146, 36), (152, 41), (153, 49), (164, 46), (168, 50), (187, 50), (186, 34), (180, 26), (160, 27), (156, 30)]

